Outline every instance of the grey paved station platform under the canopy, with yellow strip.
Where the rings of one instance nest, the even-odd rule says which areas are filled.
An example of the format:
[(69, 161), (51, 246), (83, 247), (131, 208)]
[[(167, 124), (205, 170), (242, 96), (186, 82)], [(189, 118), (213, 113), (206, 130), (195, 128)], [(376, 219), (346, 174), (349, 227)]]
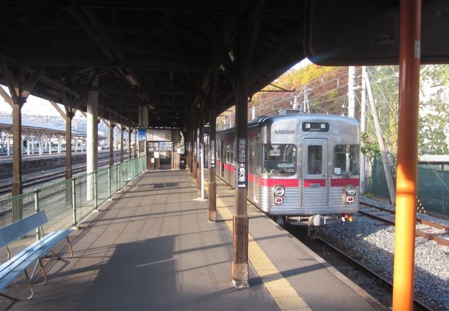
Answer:
[(81, 223), (73, 258), (52, 261), (49, 283), (9, 310), (385, 310), (250, 204), (249, 288), (233, 288), (233, 190), (218, 181), (217, 194), (208, 223), (188, 171), (144, 173)]

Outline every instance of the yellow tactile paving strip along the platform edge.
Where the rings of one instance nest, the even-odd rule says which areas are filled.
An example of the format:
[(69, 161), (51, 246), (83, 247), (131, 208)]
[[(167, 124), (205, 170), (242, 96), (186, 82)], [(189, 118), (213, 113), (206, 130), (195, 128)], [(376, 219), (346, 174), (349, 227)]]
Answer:
[[(232, 213), (219, 197), (217, 197), (217, 211), (232, 232)], [(280, 310), (312, 310), (292, 288), (287, 279), (280, 274), (276, 265), (271, 262), (267, 254), (254, 241), (251, 234), (248, 237), (248, 257)]]

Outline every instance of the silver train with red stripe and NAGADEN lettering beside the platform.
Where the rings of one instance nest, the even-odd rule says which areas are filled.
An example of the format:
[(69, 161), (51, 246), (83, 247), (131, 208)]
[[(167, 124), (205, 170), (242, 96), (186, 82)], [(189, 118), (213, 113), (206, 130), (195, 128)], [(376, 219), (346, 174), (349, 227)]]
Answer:
[[(216, 135), (216, 175), (235, 187), (235, 130)], [(359, 209), (359, 122), (286, 114), (248, 124), (248, 200), (289, 223), (323, 225)]]

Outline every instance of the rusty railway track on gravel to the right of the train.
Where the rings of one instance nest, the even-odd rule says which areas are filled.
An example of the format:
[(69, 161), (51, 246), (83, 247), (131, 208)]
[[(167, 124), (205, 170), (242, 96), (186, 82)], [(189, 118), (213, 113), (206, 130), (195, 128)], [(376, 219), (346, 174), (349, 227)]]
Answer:
[[(367, 202), (361, 202), (360, 204), (361, 207), (366, 206), (367, 208), (359, 209), (359, 214), (380, 220), (389, 225), (395, 224), (394, 210), (372, 205)], [(441, 245), (449, 246), (449, 227), (445, 225), (417, 217), (416, 235), (433, 240)]]

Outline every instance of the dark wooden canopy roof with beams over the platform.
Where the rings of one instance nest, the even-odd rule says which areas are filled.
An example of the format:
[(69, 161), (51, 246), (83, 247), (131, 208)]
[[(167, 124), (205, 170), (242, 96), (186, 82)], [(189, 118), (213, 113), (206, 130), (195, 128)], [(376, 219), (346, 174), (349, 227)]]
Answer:
[[(86, 111), (88, 91), (98, 91), (106, 120), (137, 126), (146, 107), (150, 126), (184, 128), (198, 120), (218, 73), (218, 101), (203, 112), (235, 104), (234, 51), (244, 24), (248, 97), (306, 56), (331, 65), (395, 62), (399, 1), (362, 2), (3, 0), (0, 84), (8, 82), (5, 68), (23, 81), (39, 73), (33, 95)], [(448, 28), (445, 2), (423, 4), (440, 33)]]

